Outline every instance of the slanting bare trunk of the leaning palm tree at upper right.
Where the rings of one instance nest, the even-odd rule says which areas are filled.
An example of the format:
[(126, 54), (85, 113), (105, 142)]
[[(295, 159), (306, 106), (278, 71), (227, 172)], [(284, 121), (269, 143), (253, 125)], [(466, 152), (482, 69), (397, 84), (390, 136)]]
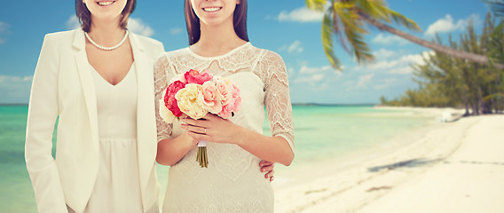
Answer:
[[(423, 40), (417, 36), (413, 36), (411, 34), (404, 32), (404, 31), (398, 30), (397, 28), (392, 28), (388, 25), (383, 24), (380, 21), (371, 19), (365, 13), (359, 12), (358, 14), (359, 14), (360, 18), (362, 18), (363, 20), (366, 20), (367, 23), (373, 25), (376, 28), (379, 28), (381, 30), (385, 30), (393, 35), (402, 37), (402, 38), (409, 40), (413, 43), (417, 43), (421, 46), (427, 47), (433, 51), (440, 51), (445, 54), (451, 55), (453, 57), (457, 57), (459, 59), (468, 59), (470, 61), (474, 61), (479, 64), (488, 65), (489, 61), (488, 61), (488, 57), (486, 57), (486, 56), (478, 55), (478, 54), (467, 52), (467, 51), (459, 51), (459, 50), (455, 50), (451, 47), (441, 45), (439, 43), (429, 42), (429, 41)], [(493, 66), (497, 67), (499, 69), (504, 69), (504, 65), (499, 64), (499, 63), (494, 62)]]

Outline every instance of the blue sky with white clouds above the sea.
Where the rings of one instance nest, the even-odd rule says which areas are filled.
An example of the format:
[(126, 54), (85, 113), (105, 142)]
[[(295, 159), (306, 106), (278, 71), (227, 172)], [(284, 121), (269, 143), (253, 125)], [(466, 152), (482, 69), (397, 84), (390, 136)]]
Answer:
[[(449, 35), (458, 37), (469, 20), (479, 33), (490, 11), (480, 0), (387, 3), (414, 20), (422, 32), (399, 29), (427, 40), (436, 33), (445, 41)], [(377, 104), (382, 96), (393, 99), (417, 88), (411, 65), (422, 63), (429, 49), (369, 27), (366, 42), (376, 59), (359, 65), (335, 43), (335, 55), (343, 64), (340, 72), (330, 67), (322, 49), (321, 17), (307, 10), (303, 0), (248, 1), (250, 43), (284, 59), (293, 103)], [(78, 26), (72, 0), (4, 1), (0, 7), (0, 104), (27, 104), (43, 36)], [(138, 0), (128, 28), (160, 41), (165, 51), (188, 45), (182, 0)]]

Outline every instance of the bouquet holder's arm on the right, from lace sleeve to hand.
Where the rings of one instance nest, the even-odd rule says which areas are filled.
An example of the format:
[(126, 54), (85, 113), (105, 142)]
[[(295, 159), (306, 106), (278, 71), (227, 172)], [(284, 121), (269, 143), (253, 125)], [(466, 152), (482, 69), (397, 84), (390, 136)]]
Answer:
[(240, 127), (215, 114), (207, 114), (205, 120), (184, 119), (187, 124), (182, 128), (197, 141), (236, 144), (264, 161), (287, 166), (294, 159), (294, 123), (285, 64), (278, 54), (267, 51), (257, 67), (264, 71), (261, 73), (265, 84), (264, 105), (272, 137)]

